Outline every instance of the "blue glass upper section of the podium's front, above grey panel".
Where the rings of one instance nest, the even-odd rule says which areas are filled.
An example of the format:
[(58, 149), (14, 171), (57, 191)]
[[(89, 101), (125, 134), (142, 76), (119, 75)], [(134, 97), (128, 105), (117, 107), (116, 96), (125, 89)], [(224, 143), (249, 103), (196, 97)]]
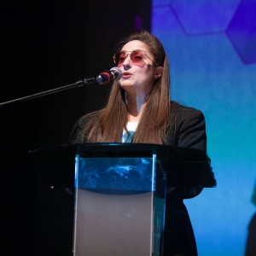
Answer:
[[(86, 172), (79, 172), (86, 170)], [(76, 157), (75, 186), (101, 191), (154, 191), (153, 157)]]

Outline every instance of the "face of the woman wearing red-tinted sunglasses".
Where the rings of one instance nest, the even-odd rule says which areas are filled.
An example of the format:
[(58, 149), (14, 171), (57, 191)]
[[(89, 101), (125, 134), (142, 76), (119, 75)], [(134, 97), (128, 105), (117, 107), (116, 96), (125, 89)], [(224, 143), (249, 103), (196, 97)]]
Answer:
[[(141, 54), (130, 55), (134, 50), (141, 50)], [(142, 41), (133, 40), (121, 49), (118, 67), (123, 73), (119, 80), (120, 86), (127, 92), (134, 92), (148, 96), (155, 79), (154, 58), (148, 51), (148, 47)]]

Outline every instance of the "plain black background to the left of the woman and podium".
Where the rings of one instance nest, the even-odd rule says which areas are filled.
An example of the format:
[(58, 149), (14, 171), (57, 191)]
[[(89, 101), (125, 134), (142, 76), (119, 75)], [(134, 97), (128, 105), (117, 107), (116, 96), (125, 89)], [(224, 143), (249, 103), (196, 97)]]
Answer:
[[(114, 67), (116, 43), (150, 30), (151, 2), (38, 0), (1, 3), (0, 102), (96, 76)], [(1, 255), (72, 255), (73, 197), (49, 189), (26, 152), (68, 143), (82, 114), (102, 108), (111, 85), (90, 84), (0, 106)]]

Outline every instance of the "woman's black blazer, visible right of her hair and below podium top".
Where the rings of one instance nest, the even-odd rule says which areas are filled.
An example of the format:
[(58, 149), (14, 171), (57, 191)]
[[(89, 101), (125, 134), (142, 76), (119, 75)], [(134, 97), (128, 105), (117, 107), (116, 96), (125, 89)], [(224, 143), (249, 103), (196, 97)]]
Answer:
[[(172, 102), (170, 123), (167, 144), (207, 151), (206, 122), (200, 110)], [(167, 190), (164, 256), (197, 255), (194, 231), (183, 199), (199, 195), (202, 189)]]

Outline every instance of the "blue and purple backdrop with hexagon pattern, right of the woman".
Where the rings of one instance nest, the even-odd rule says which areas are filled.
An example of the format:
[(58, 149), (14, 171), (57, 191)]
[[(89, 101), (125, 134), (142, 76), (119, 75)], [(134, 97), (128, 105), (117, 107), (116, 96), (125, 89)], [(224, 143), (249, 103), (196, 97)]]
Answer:
[(256, 233), (256, 0), (153, 0), (152, 32), (169, 57), (172, 100), (207, 121), (218, 185), (185, 201), (198, 253), (245, 255), (249, 225)]

